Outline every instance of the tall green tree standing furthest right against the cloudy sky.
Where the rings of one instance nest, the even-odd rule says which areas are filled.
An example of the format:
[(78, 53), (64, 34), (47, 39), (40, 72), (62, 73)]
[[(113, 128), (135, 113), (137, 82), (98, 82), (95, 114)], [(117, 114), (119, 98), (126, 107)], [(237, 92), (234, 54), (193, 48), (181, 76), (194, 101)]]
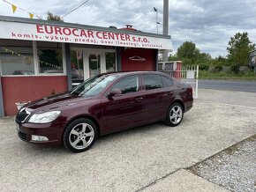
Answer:
[(249, 53), (255, 49), (255, 44), (249, 40), (248, 33), (236, 33), (230, 38), (228, 50), (229, 63), (232, 65), (247, 65)]

